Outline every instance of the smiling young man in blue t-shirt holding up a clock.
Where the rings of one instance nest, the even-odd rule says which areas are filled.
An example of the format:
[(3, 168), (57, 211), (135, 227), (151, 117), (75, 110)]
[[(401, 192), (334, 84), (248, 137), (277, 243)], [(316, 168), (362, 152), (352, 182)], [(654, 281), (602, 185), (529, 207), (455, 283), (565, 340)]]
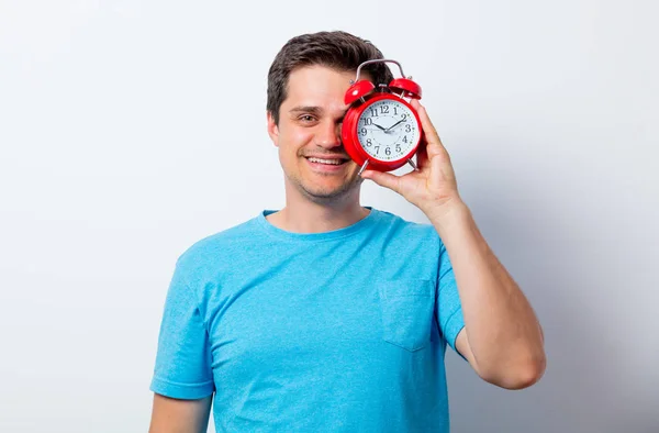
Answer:
[[(417, 102), (418, 170), (349, 160), (344, 93), (382, 58), (344, 32), (289, 41), (268, 76), (268, 133), (286, 207), (206, 237), (178, 259), (150, 389), (152, 432), (448, 432), (448, 344), (484, 380), (518, 389), (545, 369), (526, 298), (458, 195)], [(384, 64), (366, 69), (389, 82)], [(432, 224), (359, 203), (364, 179)]]

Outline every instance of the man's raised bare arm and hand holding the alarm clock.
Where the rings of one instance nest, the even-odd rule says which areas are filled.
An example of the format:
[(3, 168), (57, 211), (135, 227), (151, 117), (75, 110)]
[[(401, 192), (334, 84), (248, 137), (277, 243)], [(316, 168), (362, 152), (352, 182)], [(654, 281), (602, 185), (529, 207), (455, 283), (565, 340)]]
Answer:
[(456, 348), (484, 380), (518, 389), (545, 373), (544, 337), (528, 301), (496, 259), (458, 193), (450, 156), (417, 100), (425, 137), (418, 169), (404, 176), (365, 170), (362, 178), (390, 188), (431, 220), (450, 258), (465, 327)]

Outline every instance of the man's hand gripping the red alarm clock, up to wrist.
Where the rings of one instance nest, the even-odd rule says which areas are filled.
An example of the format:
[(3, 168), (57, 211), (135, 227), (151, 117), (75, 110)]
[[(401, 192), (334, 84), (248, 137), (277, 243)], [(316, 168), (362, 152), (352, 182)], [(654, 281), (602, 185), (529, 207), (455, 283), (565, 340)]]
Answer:
[(418, 170), (395, 176), (390, 173), (367, 169), (361, 177), (400, 193), (428, 218), (440, 218), (443, 214), (448, 214), (454, 207), (459, 208), (463, 203), (458, 193), (448, 152), (442, 144), (425, 108), (417, 100), (412, 100), (411, 103), (418, 112), (423, 127), (416, 154)]

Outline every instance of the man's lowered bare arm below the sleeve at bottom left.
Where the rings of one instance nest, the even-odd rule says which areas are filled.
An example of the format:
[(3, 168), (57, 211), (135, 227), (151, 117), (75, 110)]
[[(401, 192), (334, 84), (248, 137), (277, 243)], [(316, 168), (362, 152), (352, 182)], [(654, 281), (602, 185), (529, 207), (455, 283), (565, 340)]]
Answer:
[(213, 396), (180, 400), (154, 393), (148, 433), (205, 433)]

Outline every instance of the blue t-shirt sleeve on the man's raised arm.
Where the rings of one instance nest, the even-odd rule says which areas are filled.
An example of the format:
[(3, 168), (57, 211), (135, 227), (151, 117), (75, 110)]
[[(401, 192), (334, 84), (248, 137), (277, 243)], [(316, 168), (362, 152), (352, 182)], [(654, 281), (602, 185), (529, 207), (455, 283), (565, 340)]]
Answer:
[(456, 351), (456, 338), (465, 327), (462, 306), (453, 265), (444, 243), (439, 248), (439, 269), (437, 273), (437, 320), (446, 342)]

